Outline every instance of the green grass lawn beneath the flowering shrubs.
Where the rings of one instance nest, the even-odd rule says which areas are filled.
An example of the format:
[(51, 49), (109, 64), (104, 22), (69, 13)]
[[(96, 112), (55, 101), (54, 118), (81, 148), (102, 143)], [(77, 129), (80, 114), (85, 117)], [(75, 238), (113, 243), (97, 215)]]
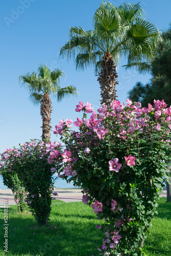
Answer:
[[(145, 241), (146, 255), (171, 255), (171, 203), (160, 199), (159, 215)], [(4, 209), (0, 208), (0, 255), (15, 256), (97, 256), (103, 234), (95, 225), (92, 209), (82, 202), (53, 201), (48, 227), (38, 227), (27, 211), (18, 214), (15, 205), (8, 209), (8, 252), (4, 252)]]

